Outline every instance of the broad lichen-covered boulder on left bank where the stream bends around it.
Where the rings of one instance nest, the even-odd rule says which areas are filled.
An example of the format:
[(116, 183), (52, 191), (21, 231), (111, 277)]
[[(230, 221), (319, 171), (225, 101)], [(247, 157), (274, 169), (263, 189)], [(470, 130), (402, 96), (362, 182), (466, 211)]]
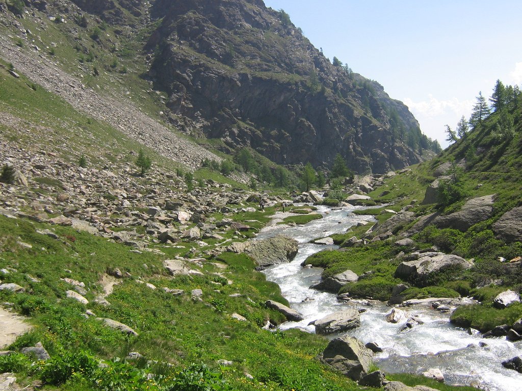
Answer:
[(298, 244), (295, 239), (278, 235), (268, 239), (248, 241), (245, 253), (259, 266), (278, 265), (294, 259)]

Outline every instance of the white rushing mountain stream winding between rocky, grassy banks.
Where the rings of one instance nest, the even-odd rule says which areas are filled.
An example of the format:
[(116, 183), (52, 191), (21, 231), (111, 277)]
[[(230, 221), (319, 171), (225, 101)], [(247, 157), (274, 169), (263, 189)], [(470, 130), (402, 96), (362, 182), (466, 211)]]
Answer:
[[(408, 316), (416, 315), (424, 324), (408, 331), (400, 331), (404, 322), (388, 323), (384, 320), (390, 308), (378, 301), (340, 302), (336, 295), (310, 289), (321, 278), (321, 268), (303, 268), (301, 263), (311, 254), (325, 248), (309, 243), (310, 240), (342, 233), (361, 221), (374, 221), (372, 216), (351, 213), (361, 207), (330, 209), (319, 206), (324, 218), (309, 224), (288, 227), (273, 225), (264, 228), (258, 238), (278, 234), (288, 235), (299, 241), (299, 252), (290, 263), (266, 268), (267, 279), (281, 287), (290, 307), (301, 312), (301, 322), (286, 322), (280, 328), (300, 327), (313, 333), (308, 324), (344, 308), (364, 308), (361, 326), (347, 334), (363, 343), (375, 342), (384, 352), (375, 356), (376, 364), (385, 372), (422, 373), (438, 368), (448, 384), (473, 385), (490, 391), (522, 391), (522, 374), (505, 369), (501, 362), (522, 355), (522, 341), (511, 343), (505, 337), (482, 338), (469, 335), (464, 329), (449, 323), (449, 315), (429, 307), (404, 308)], [(330, 338), (339, 335), (330, 336)]]

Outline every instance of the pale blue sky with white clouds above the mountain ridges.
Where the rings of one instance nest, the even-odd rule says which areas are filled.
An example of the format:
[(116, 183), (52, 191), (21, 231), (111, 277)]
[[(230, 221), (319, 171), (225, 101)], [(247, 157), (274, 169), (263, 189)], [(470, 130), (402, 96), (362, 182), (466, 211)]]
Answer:
[(496, 79), (522, 84), (520, 0), (265, 0), (330, 60), (378, 81), (443, 147)]

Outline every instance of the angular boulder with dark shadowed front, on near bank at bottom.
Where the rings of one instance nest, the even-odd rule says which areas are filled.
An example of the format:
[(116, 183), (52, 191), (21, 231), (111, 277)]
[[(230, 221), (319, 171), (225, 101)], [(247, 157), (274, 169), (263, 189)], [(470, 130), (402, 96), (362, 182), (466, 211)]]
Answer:
[(360, 340), (345, 336), (332, 339), (319, 359), (343, 375), (361, 380), (370, 371), (373, 352), (364, 347)]

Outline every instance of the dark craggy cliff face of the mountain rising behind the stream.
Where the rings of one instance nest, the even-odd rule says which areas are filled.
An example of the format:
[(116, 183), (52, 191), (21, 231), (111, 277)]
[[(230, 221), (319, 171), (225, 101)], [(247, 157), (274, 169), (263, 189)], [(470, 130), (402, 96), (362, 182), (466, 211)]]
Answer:
[(332, 65), (260, 0), (157, 0), (151, 16), (161, 22), (150, 74), (187, 132), (282, 164), (327, 166), (340, 153), (360, 173), (417, 163), (433, 147), (404, 104)]

